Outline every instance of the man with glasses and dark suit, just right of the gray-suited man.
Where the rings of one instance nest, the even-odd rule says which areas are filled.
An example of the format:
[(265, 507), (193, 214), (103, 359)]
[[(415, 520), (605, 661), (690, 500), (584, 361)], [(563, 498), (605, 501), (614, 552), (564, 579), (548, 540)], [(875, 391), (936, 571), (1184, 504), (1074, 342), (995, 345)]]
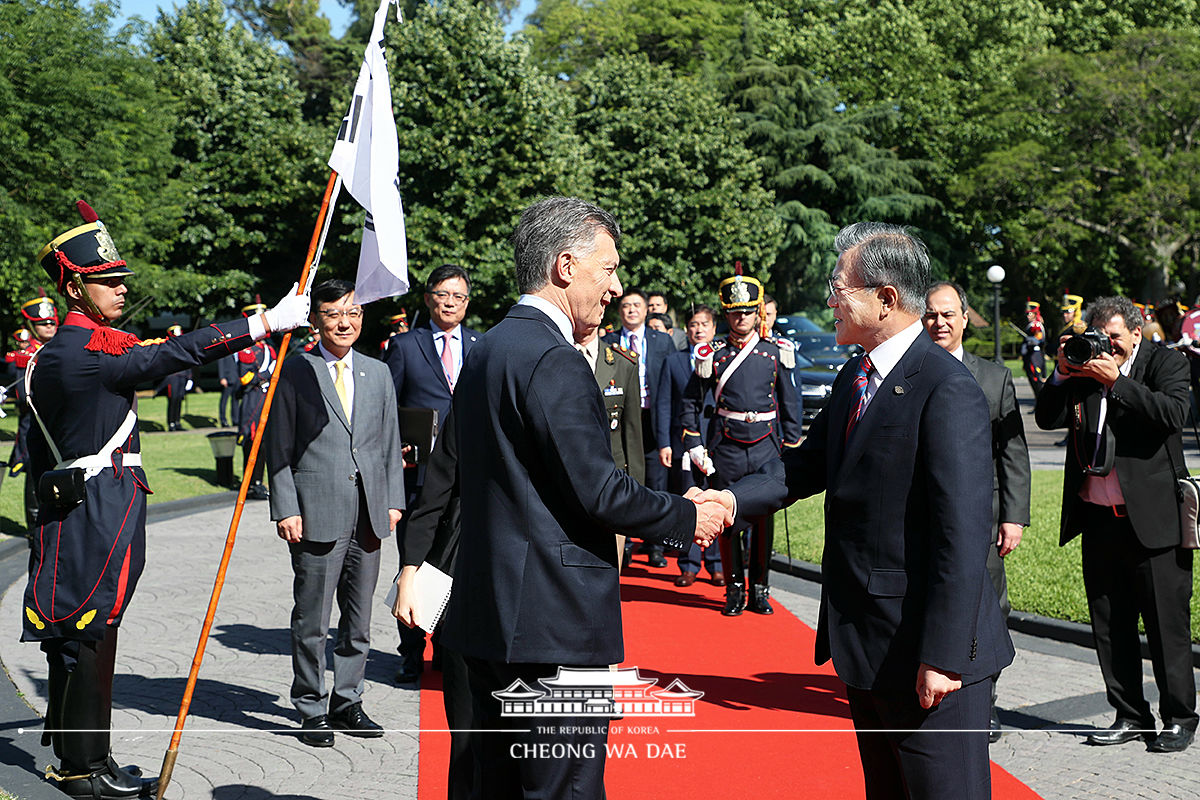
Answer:
[[(396, 401), (402, 408), (431, 408), (437, 411), (438, 425), (450, 413), (450, 401), (462, 372), (462, 362), (481, 333), (462, 324), (470, 302), (470, 278), (456, 264), (443, 264), (425, 279), (425, 307), (430, 321), (404, 333), (392, 336), (383, 360), (391, 371)], [(412, 505), (425, 485), (424, 456), (416, 467), (404, 470), (404, 489)], [(400, 566), (404, 565), (406, 522), (396, 531)], [(397, 684), (410, 684), (425, 668), (425, 632), (397, 622), (400, 630), (401, 664)], [(440, 636), (434, 637), (433, 663), (439, 663)]]

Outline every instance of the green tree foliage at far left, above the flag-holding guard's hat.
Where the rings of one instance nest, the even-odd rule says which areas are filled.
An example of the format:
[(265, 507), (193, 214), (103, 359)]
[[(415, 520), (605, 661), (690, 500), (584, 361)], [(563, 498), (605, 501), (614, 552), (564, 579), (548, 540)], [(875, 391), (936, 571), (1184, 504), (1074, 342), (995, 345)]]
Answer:
[(122, 255), (154, 245), (168, 216), (169, 103), (112, 8), (77, 0), (0, 4), (0, 297), (14, 308), (48, 285), (38, 251), (80, 224), (84, 198)]

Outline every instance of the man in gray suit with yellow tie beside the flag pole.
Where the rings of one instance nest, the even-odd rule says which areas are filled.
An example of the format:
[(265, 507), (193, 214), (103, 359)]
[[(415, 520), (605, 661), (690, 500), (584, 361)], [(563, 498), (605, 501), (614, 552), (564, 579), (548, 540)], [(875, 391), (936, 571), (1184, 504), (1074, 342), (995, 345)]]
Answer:
[[(266, 427), (271, 519), (292, 551), (292, 704), (300, 740), (334, 744), (334, 730), (379, 736), (362, 711), (379, 540), (404, 507), (396, 391), (382, 362), (355, 353), (362, 307), (354, 284), (313, 289), (317, 348), (283, 365)], [(332, 694), (325, 687), (325, 634), (337, 597)], [(328, 709), (328, 712), (326, 712)]]

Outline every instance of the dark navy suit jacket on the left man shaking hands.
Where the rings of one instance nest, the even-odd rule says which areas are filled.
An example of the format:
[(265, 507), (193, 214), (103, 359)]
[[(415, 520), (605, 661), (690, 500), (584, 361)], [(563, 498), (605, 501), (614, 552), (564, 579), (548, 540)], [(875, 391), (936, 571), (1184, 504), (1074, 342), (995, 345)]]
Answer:
[(624, 533), (680, 547), (690, 500), (612, 462), (595, 375), (541, 311), (514, 306), (475, 343), (455, 391), (463, 497), (443, 642), (478, 658), (600, 666), (624, 657)]

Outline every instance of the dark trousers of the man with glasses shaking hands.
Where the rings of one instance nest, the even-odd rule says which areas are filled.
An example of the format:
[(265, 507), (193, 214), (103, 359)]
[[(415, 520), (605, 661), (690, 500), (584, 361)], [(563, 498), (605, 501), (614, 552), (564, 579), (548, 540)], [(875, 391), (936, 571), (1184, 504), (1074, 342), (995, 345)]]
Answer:
[(990, 680), (950, 692), (929, 711), (920, 708), (913, 687), (847, 686), (846, 694), (866, 800), (990, 800)]

